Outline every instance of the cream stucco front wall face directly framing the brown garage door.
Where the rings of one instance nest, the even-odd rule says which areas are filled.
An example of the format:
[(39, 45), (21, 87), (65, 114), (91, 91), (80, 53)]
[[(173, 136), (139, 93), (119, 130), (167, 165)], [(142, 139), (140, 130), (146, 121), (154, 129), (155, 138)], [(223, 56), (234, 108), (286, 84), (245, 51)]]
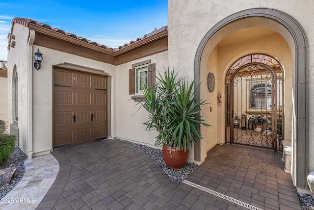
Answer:
[[(34, 45), (32, 50), (43, 54), (41, 69), (33, 68), (32, 103), (33, 103), (33, 153), (34, 156), (52, 150), (53, 133), (53, 66), (73, 70), (109, 75), (115, 86), (115, 66), (83, 58), (69, 53), (55, 51)], [(106, 73), (104, 73), (106, 71)], [(44, 91), (43, 91), (44, 90)], [(114, 91), (114, 90), (113, 90)], [(115, 94), (111, 94), (111, 107), (115, 107)], [(110, 112), (114, 110), (110, 110)], [(114, 119), (112, 119), (114, 123)], [(112, 132), (112, 131), (111, 131)], [(114, 132), (113, 132), (114, 133)]]

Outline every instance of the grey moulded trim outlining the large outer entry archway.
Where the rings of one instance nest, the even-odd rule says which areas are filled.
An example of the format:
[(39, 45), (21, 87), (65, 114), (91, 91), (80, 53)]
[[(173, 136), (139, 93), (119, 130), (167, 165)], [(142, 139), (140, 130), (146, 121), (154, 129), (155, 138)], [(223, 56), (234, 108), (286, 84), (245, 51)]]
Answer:
[[(194, 60), (194, 80), (195, 87), (200, 84), (200, 67), (202, 53), (210, 38), (221, 28), (240, 19), (249, 17), (268, 18), (284, 26), (295, 45), (293, 71), (295, 71), (295, 157), (296, 157), (296, 182), (295, 185), (301, 188), (308, 188), (306, 176), (308, 174), (308, 141), (309, 141), (309, 118), (308, 118), (308, 41), (302, 26), (287, 13), (271, 8), (252, 8), (239, 11), (230, 15), (210, 28), (199, 44)], [(195, 89), (196, 100), (200, 100), (201, 90)], [(194, 149), (194, 159), (201, 161), (201, 148), (196, 146)]]

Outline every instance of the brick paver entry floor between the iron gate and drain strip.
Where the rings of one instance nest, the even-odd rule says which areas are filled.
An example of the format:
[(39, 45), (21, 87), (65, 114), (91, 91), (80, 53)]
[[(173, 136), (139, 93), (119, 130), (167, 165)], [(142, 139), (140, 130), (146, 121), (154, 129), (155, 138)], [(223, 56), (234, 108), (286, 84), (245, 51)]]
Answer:
[[(207, 156), (188, 181), (263, 210), (301, 209), (291, 174), (284, 172), (282, 152), (225, 144), (216, 145)], [(202, 192), (201, 197), (222, 210), (234, 209), (230, 202), (208, 193)]]

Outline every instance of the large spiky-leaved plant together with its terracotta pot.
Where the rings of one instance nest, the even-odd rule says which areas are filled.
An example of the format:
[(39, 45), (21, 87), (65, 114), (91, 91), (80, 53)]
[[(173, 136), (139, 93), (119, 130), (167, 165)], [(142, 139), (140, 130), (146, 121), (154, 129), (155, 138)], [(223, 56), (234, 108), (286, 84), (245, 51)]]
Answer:
[(188, 150), (202, 138), (201, 125), (209, 126), (199, 115), (205, 101), (195, 101), (194, 82), (188, 84), (177, 75), (169, 69), (163, 77), (159, 73), (157, 84), (144, 88), (141, 103), (149, 112), (146, 129), (157, 131), (155, 146), (162, 146), (164, 161), (172, 169), (185, 165)]

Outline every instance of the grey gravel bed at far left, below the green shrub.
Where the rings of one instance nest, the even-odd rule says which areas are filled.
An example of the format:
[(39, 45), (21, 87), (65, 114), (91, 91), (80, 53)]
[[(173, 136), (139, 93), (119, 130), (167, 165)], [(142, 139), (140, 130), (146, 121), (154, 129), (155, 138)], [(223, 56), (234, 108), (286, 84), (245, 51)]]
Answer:
[(15, 146), (14, 152), (11, 154), (11, 156), (0, 165), (0, 169), (10, 167), (16, 168), (10, 183), (0, 186), (0, 198), (3, 198), (6, 194), (8, 194), (9, 191), (13, 189), (13, 187), (22, 179), (25, 173), (25, 159), (26, 155), (18, 146)]

